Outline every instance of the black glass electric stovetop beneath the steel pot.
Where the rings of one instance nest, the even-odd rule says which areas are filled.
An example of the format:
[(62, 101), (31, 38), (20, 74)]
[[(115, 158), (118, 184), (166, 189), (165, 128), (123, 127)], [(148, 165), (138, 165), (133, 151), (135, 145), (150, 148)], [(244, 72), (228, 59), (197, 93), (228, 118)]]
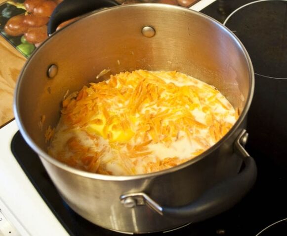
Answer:
[[(255, 71), (247, 119), (246, 150), (258, 177), (230, 210), (200, 223), (158, 235), (287, 235), (287, 0), (217, 0), (202, 10), (224, 23), (243, 42)], [(19, 132), (12, 152), (43, 200), (71, 236), (119, 236), (86, 221), (61, 199), (40, 159)]]

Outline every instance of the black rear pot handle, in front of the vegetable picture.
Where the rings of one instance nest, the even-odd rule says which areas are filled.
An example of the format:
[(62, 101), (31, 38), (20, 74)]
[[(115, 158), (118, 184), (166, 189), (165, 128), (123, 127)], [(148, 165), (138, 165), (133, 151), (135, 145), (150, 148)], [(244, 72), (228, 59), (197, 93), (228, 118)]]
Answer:
[(57, 5), (48, 23), (48, 35), (54, 33), (57, 27), (70, 19), (81, 16), (93, 10), (120, 5), (116, 0), (64, 0)]

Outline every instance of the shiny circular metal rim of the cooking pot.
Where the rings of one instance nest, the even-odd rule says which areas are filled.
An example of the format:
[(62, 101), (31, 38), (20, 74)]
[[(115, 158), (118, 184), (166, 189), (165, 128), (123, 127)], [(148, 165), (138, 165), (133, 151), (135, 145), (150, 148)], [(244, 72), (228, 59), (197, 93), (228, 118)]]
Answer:
[(183, 10), (184, 12), (188, 13), (188, 14), (196, 14), (199, 17), (203, 17), (208, 21), (212, 21), (214, 24), (218, 25), (221, 30), (223, 30), (225, 33), (229, 34), (229, 36), (231, 38), (234, 39), (235, 42), (237, 42), (239, 44), (239, 47), (243, 50), (244, 52), (244, 56), (248, 65), (248, 70), (249, 70), (249, 91), (248, 91), (248, 95), (247, 95), (247, 99), (246, 99), (246, 104), (238, 118), (238, 120), (235, 122), (235, 124), (233, 125), (233, 127), (229, 130), (229, 132), (224, 135), (218, 142), (216, 142), (213, 146), (211, 146), (209, 149), (207, 149), (205, 152), (203, 152), (202, 154), (200, 154), (199, 156), (184, 162), (178, 166), (169, 168), (169, 169), (164, 169), (164, 170), (160, 170), (160, 171), (156, 171), (156, 172), (152, 172), (152, 173), (146, 173), (146, 174), (137, 174), (137, 175), (104, 175), (104, 174), (98, 174), (98, 173), (91, 173), (91, 172), (87, 172), (84, 170), (80, 170), (80, 169), (76, 169), (73, 167), (70, 167), (56, 159), (54, 159), (53, 157), (49, 156), (45, 151), (43, 151), (41, 148), (38, 147), (38, 145), (34, 142), (34, 140), (30, 137), (30, 135), (28, 135), (28, 132), (26, 131), (26, 129), (24, 128), (21, 116), (19, 115), (19, 90), (21, 87), (21, 82), (22, 82), (22, 77), (25, 74), (26, 68), (29, 67), (32, 59), (34, 58), (34, 56), (38, 53), (38, 51), (41, 50), (41, 47), (44, 47), (44, 45), (46, 43), (49, 42), (49, 40), (57, 34), (61, 34), (61, 32), (65, 31), (67, 29), (67, 27), (64, 27), (58, 31), (56, 31), (55, 33), (53, 33), (51, 36), (49, 36), (47, 39), (45, 39), (41, 45), (36, 48), (36, 50), (32, 53), (31, 57), (26, 61), (24, 67), (21, 70), (21, 73), (18, 76), (18, 80), (16, 83), (16, 87), (15, 87), (15, 94), (14, 94), (14, 101), (13, 101), (13, 110), (14, 110), (14, 115), (15, 115), (15, 120), (16, 123), (19, 127), (20, 133), (23, 136), (23, 138), (25, 139), (25, 141), (29, 144), (29, 146), (38, 154), (38, 156), (47, 161), (48, 163), (56, 166), (57, 168), (66, 170), (68, 172), (80, 175), (82, 177), (86, 177), (86, 178), (91, 178), (91, 179), (100, 179), (100, 180), (107, 180), (107, 181), (126, 181), (126, 180), (134, 180), (134, 179), (144, 179), (144, 178), (153, 178), (159, 175), (164, 175), (164, 174), (168, 174), (168, 173), (172, 173), (175, 171), (178, 171), (180, 169), (184, 169), (198, 161), (200, 161), (201, 159), (205, 158), (206, 156), (208, 156), (209, 154), (211, 154), (213, 151), (215, 151), (219, 146), (221, 146), (222, 143), (224, 143), (242, 124), (243, 120), (246, 117), (246, 114), (249, 110), (252, 98), (253, 98), (253, 93), (254, 93), (254, 70), (253, 70), (253, 66), (251, 63), (251, 59), (246, 51), (246, 48), (244, 47), (243, 43), (238, 39), (238, 37), (233, 34), (227, 27), (225, 27), (223, 24), (221, 24), (220, 22), (218, 22), (217, 20), (205, 15), (204, 13), (186, 8), (186, 7), (182, 7), (182, 6), (174, 6), (174, 5), (168, 5), (168, 4), (163, 4), (163, 3), (135, 3), (135, 4), (127, 4), (127, 5), (119, 5), (119, 6), (113, 6), (110, 8), (104, 8), (101, 10), (96, 10), (96, 11), (92, 11), (88, 14), (83, 15), (83, 17), (81, 17), (80, 19), (76, 20), (73, 23), (76, 23), (78, 21), (84, 20), (84, 18), (86, 17), (92, 17), (94, 14), (102, 14), (103, 12), (106, 11), (113, 11), (115, 8), (123, 8), (123, 7), (128, 7), (128, 8), (132, 8), (132, 7), (160, 7), (160, 8), (169, 8), (170, 10)]

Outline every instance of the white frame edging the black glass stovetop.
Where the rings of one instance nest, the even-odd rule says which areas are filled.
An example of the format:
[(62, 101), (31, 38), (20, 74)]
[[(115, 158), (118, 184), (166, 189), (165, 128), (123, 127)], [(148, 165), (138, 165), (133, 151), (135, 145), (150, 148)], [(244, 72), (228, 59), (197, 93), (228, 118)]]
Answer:
[[(200, 11), (213, 1), (201, 0), (190, 9)], [(17, 131), (15, 120), (0, 129), (0, 213), (16, 229), (1, 232), (4, 228), (0, 224), (0, 236), (69, 236), (10, 150), (11, 140)], [(0, 223), (3, 220), (0, 214)]]

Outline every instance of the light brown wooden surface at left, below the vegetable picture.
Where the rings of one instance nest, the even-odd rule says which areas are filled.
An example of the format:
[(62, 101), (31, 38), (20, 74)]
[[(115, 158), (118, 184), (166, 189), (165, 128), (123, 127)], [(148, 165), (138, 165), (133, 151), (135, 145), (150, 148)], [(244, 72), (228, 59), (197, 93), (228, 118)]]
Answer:
[[(4, 0), (0, 0), (0, 4)], [(26, 58), (0, 35), (0, 127), (14, 118), (16, 80)]]

